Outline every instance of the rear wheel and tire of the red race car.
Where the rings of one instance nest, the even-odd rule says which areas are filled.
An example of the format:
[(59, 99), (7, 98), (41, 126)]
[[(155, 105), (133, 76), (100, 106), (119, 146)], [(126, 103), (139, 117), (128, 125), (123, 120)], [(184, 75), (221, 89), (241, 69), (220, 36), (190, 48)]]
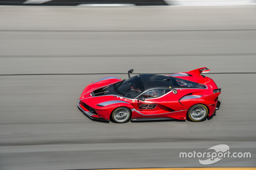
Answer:
[(209, 109), (203, 104), (196, 104), (188, 109), (188, 119), (192, 122), (203, 121), (209, 114)]

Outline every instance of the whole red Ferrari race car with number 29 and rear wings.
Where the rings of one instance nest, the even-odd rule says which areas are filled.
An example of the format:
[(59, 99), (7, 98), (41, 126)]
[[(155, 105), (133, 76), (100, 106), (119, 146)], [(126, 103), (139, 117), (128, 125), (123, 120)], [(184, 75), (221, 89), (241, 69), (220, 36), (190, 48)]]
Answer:
[(170, 75), (139, 74), (121, 80), (107, 76), (86, 86), (78, 108), (91, 119), (129, 121), (204, 120), (220, 107), (220, 89), (201, 75), (206, 67)]

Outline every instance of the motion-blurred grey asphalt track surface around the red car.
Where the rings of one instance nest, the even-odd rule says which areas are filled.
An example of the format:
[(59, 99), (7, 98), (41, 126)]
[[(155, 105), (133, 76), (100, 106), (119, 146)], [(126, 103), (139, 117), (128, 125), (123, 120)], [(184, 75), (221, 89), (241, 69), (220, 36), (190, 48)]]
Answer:
[[(256, 166), (256, 6), (0, 7), (0, 169), (205, 167), (180, 152), (227, 144)], [(221, 107), (204, 122), (96, 122), (86, 85), (200, 67)], [(205, 74), (206, 75), (206, 74)]]

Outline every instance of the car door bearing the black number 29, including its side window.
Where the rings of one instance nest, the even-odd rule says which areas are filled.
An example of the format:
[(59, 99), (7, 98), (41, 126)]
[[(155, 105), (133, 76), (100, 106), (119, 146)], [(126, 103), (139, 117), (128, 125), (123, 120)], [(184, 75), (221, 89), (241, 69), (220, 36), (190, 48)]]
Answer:
[(144, 92), (140, 97), (143, 96), (145, 101), (136, 99), (134, 103), (132, 103), (132, 106), (135, 109), (132, 112), (132, 117), (160, 118), (167, 103), (166, 95), (164, 95), (165, 93), (165, 89), (153, 89)]

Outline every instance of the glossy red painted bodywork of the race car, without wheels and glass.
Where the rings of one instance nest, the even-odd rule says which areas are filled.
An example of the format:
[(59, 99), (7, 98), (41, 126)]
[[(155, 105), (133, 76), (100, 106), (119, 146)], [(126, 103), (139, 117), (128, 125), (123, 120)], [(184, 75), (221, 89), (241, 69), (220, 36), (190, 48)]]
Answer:
[[(206, 68), (200, 68), (206, 70)], [(109, 76), (101, 78), (90, 85), (86, 86), (80, 96), (78, 107), (91, 118), (103, 118), (110, 120), (112, 111), (117, 107), (128, 107), (132, 111), (131, 118), (171, 118), (171, 119), (187, 119), (187, 112), (190, 107), (195, 104), (204, 104), (209, 109), (209, 116), (215, 112), (217, 106), (217, 97), (220, 92), (214, 93), (213, 90), (218, 89), (217, 85), (211, 78), (200, 75), (200, 69), (183, 72), (189, 76), (175, 76), (176, 78), (185, 79), (205, 85), (206, 88), (175, 88), (177, 93), (173, 93), (173, 89), (161, 97), (145, 99), (129, 99), (118, 95), (101, 95), (92, 96), (91, 92), (99, 88), (112, 85), (121, 81), (120, 78)], [(208, 70), (206, 70), (208, 71)], [(180, 73), (176, 73), (180, 74)], [(167, 76), (167, 75), (166, 75)], [(172, 76), (172, 75), (168, 75)], [(86, 108), (86, 107), (87, 108)], [(96, 114), (90, 114), (90, 109)]]

